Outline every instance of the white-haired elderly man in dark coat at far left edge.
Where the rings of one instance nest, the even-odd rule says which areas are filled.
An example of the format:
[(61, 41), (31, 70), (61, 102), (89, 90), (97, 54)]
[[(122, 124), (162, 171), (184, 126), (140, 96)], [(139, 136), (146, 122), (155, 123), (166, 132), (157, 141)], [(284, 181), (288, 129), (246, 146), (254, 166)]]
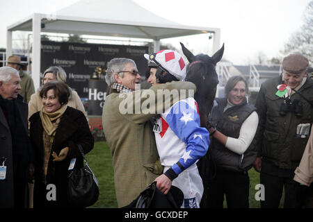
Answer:
[(28, 105), (18, 94), (16, 69), (0, 68), (0, 208), (27, 207), (27, 176), (32, 148), (27, 133)]

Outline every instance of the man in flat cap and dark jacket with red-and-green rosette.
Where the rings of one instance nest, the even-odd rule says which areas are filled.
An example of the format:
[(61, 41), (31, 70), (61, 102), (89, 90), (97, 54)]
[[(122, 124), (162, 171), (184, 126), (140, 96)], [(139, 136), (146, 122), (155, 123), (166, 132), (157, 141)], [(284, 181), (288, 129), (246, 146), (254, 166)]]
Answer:
[(262, 83), (255, 107), (259, 114), (258, 157), (265, 199), (262, 208), (278, 207), (284, 187), (284, 207), (302, 207), (297, 195), (303, 185), (294, 181), (313, 120), (313, 80), (307, 76), (309, 61), (291, 54), (282, 61), (282, 74)]

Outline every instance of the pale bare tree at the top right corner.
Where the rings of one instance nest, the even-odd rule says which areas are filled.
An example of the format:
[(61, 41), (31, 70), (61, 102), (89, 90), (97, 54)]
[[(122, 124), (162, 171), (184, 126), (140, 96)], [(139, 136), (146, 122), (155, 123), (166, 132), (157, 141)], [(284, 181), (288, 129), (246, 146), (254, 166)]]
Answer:
[(303, 53), (313, 63), (313, 1), (305, 8), (303, 26), (291, 35), (282, 51), (285, 56), (296, 52)]

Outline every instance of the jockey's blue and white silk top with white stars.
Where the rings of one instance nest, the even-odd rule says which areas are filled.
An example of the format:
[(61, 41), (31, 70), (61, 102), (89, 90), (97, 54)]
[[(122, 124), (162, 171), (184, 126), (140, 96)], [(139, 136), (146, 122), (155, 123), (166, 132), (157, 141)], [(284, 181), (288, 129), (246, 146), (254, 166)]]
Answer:
[(178, 101), (154, 121), (161, 164), (181, 173), (207, 153), (209, 132), (200, 127), (198, 108), (193, 98)]

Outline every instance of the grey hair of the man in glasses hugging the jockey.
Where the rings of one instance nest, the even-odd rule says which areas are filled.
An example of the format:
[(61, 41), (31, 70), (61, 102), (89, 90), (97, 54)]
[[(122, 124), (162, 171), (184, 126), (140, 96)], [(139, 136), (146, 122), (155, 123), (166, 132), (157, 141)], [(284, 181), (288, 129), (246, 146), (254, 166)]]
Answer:
[[(114, 78), (114, 74), (118, 74), (120, 71), (130, 71), (130, 70), (124, 70), (125, 65), (127, 64), (133, 64), (134, 67), (136, 67), (136, 63), (134, 60), (131, 60), (130, 58), (113, 58), (108, 62), (108, 65), (106, 65), (106, 84), (109, 86), (113, 83), (116, 83), (116, 80)], [(119, 73), (120, 77), (124, 76), (124, 73)]]

